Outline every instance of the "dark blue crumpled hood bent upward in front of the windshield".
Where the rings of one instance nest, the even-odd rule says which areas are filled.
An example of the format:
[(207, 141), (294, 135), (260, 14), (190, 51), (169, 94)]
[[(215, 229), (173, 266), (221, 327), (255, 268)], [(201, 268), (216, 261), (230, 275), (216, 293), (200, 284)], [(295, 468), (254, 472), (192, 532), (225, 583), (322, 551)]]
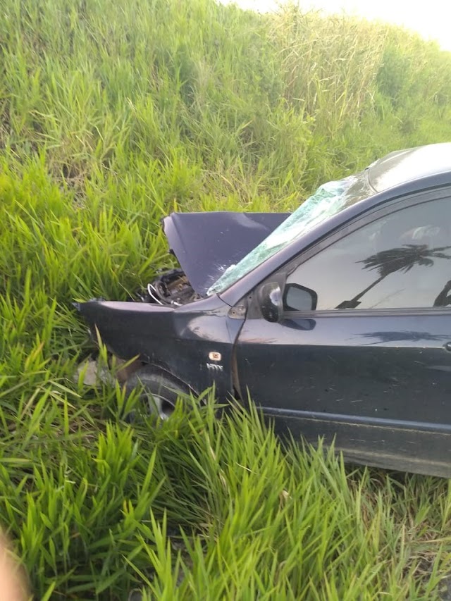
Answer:
[(163, 230), (190, 284), (199, 295), (247, 255), (290, 213), (171, 213)]

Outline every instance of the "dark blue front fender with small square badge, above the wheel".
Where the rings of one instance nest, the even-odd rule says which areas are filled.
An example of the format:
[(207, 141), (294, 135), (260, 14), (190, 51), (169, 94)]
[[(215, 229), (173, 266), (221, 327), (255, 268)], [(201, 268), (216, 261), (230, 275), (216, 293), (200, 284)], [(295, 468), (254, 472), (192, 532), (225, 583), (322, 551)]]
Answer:
[[(215, 385), (218, 397), (225, 399), (233, 390), (233, 343), (243, 319), (230, 318), (230, 307), (218, 297), (177, 309), (92, 300), (78, 303), (78, 310), (93, 337), (97, 328), (102, 342), (117, 357), (138, 356), (171, 373), (196, 394)], [(212, 353), (221, 359), (211, 360)]]

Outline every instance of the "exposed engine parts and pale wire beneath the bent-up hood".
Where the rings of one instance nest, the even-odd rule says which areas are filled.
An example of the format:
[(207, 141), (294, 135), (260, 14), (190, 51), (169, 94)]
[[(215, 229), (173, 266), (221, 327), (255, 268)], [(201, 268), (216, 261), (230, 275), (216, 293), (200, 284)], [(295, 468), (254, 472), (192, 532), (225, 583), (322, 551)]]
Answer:
[(195, 292), (181, 269), (171, 269), (147, 284), (147, 289), (138, 292), (141, 302), (182, 306), (202, 298)]

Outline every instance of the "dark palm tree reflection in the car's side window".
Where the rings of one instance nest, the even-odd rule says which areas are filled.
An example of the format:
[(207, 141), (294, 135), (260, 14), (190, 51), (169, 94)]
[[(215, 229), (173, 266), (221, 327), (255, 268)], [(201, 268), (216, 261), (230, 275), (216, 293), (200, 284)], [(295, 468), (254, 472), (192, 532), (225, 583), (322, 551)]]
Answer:
[(360, 299), (366, 295), (366, 292), (378, 285), (390, 273), (396, 271), (407, 273), (416, 265), (431, 267), (434, 264), (433, 259), (451, 259), (451, 256), (443, 253), (444, 250), (450, 248), (451, 246), (429, 249), (427, 244), (404, 244), (400, 248), (383, 250), (369, 256), (367, 259), (363, 259), (363, 261), (358, 261), (358, 263), (364, 264), (364, 269), (370, 271), (376, 269), (379, 277), (354, 298), (340, 303), (337, 309), (355, 309), (359, 306)]

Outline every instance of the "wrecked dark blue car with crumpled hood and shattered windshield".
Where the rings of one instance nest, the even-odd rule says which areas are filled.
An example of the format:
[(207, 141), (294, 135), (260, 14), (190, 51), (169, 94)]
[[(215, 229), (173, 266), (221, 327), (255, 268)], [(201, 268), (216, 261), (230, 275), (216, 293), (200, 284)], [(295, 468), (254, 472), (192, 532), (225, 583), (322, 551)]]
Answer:
[(451, 477), (451, 143), (396, 151), (293, 213), (173, 213), (180, 268), (78, 310), (180, 393), (250, 397), (276, 431), (354, 463)]

